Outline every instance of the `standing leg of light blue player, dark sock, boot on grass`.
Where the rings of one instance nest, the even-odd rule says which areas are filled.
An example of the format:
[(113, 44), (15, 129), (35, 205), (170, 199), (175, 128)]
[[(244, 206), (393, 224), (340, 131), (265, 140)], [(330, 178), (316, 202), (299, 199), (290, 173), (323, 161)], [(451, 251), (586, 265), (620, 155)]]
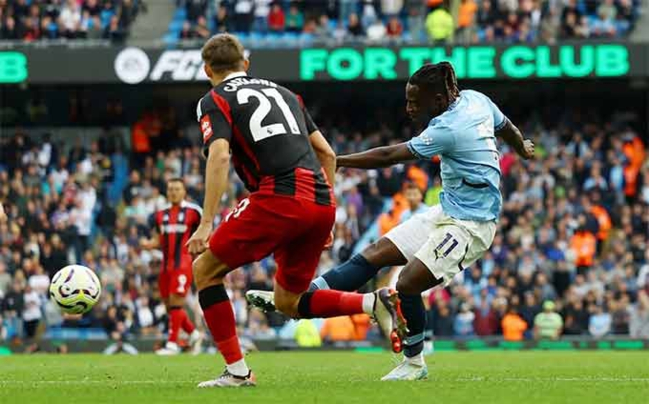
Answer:
[(421, 292), (440, 283), (441, 281), (436, 279), (419, 259), (413, 259), (403, 268), (396, 287), (401, 301), (401, 310), (408, 324), (407, 338), (403, 345), (404, 359), (381, 380), (412, 381), (428, 376), (428, 368), (422, 354), (426, 312)]

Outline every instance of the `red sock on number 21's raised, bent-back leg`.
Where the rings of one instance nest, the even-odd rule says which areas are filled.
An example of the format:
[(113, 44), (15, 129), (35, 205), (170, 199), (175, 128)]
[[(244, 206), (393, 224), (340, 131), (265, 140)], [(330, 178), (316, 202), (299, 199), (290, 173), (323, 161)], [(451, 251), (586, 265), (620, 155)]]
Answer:
[[(305, 296), (307, 294), (302, 295), (302, 299)], [(304, 311), (308, 311), (308, 313), (300, 310), (300, 314), (307, 318), (351, 316), (363, 312), (363, 295), (360, 293), (340, 292), (340, 290), (315, 290), (307, 299), (309, 306), (308, 308), (304, 307), (306, 309)], [(302, 305), (301, 301), (300, 305)]]

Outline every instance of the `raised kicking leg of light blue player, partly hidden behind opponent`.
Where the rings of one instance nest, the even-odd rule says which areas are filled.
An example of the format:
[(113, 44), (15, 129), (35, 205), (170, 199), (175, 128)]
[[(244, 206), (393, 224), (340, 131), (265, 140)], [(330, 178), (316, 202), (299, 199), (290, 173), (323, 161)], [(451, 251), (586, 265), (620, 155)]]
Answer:
[[(384, 237), (369, 245), (362, 253), (351, 257), (349, 261), (314, 279), (309, 291), (331, 289), (353, 292), (372, 279), (382, 267), (404, 265), (406, 262), (394, 243)], [(246, 299), (264, 312), (275, 310), (273, 292), (249, 290), (246, 292)]]

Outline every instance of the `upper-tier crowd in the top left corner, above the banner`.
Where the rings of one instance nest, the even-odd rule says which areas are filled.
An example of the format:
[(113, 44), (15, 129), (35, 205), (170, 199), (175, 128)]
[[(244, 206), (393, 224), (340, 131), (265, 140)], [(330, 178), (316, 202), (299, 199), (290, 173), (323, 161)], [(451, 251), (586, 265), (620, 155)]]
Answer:
[(0, 0), (0, 40), (124, 41), (142, 0)]

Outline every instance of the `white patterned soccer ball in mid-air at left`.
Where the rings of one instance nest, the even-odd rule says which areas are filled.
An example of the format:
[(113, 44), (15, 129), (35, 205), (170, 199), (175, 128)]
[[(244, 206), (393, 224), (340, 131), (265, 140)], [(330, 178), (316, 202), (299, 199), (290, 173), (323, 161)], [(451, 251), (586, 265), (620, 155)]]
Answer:
[(54, 274), (50, 298), (68, 314), (84, 314), (99, 301), (101, 283), (93, 270), (84, 265), (68, 265)]

